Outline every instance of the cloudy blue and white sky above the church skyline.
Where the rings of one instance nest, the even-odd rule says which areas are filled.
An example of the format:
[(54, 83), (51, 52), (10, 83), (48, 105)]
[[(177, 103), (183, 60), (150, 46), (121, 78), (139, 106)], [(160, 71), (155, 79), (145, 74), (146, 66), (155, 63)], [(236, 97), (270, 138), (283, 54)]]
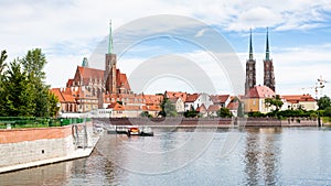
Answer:
[(117, 66), (137, 92), (241, 94), (250, 29), (263, 85), (268, 28), (276, 92), (316, 97), (322, 77), (329, 83), (319, 95), (331, 97), (329, 0), (1, 0), (0, 12), (7, 63), (42, 48), (52, 87), (65, 87), (84, 57), (90, 67), (104, 67), (111, 20)]

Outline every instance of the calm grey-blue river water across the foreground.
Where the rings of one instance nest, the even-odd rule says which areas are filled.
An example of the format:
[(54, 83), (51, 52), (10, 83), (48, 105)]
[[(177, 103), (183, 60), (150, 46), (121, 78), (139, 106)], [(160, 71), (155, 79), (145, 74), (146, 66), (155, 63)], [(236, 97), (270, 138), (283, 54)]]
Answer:
[(0, 185), (331, 185), (328, 128), (154, 134), (104, 134), (87, 158), (1, 174)]

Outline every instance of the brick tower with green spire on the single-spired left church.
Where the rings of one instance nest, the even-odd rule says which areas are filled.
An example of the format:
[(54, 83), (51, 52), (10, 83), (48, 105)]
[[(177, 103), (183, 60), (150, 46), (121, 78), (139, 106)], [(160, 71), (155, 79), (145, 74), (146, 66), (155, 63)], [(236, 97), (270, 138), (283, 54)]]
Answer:
[(116, 94), (116, 54), (113, 48), (113, 33), (111, 33), (111, 21), (109, 25), (109, 41), (108, 41), (108, 53), (106, 54), (105, 62), (105, 79), (106, 79), (106, 91), (109, 94)]

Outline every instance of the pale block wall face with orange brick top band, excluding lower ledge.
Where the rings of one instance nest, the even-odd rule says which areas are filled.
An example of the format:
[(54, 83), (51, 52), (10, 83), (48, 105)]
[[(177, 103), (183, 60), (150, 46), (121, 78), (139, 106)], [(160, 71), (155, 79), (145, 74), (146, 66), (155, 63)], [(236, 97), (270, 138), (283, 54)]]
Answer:
[[(88, 135), (92, 131), (89, 122)], [(62, 157), (75, 150), (72, 125), (0, 130), (0, 167)]]

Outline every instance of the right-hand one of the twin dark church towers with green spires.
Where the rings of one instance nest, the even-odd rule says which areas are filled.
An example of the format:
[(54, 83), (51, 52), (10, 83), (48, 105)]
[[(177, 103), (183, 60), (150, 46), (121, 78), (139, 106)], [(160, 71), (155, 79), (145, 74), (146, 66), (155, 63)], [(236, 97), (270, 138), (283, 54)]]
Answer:
[(266, 41), (266, 58), (264, 59), (264, 85), (269, 87), (274, 91), (276, 90), (274, 64), (273, 64), (273, 59), (270, 59), (268, 29), (267, 29), (267, 41)]

